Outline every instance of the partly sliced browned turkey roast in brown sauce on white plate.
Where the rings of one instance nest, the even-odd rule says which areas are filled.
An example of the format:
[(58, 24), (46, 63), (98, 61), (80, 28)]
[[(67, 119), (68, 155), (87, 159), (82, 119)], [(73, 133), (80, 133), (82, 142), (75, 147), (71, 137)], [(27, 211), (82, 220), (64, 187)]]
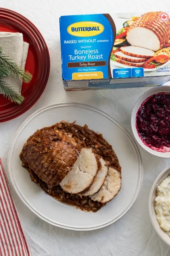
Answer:
[(87, 125), (62, 121), (37, 130), (20, 158), (31, 180), (45, 192), (83, 210), (101, 209), (121, 188), (121, 167), (112, 146)]

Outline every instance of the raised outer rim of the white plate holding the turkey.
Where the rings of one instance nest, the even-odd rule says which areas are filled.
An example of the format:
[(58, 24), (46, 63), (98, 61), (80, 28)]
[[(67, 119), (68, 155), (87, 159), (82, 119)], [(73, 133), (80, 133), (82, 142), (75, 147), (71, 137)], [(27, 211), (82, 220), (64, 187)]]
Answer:
[[(43, 214), (41, 214), (38, 210), (36, 210), (34, 207), (31, 206), (31, 204), (25, 200), (25, 197), (22, 195), (22, 192), (20, 191), (17, 183), (15, 182), (14, 178), (13, 178), (13, 171), (12, 171), (12, 166), (11, 166), (11, 160), (12, 160), (12, 154), (13, 154), (13, 148), (15, 146), (15, 143), (17, 141), (17, 139), (19, 138), (20, 133), (22, 132), (23, 128), (25, 128), (25, 126), (27, 125), (27, 123), (29, 123), (33, 118), (35, 118), (37, 115), (39, 115), (40, 113), (49, 110), (50, 108), (57, 108), (57, 107), (79, 107), (79, 108), (87, 108), (90, 109), (94, 112), (98, 112), (101, 115), (104, 115), (105, 117), (107, 117), (109, 120), (111, 120), (114, 124), (116, 124), (117, 126), (119, 126), (124, 133), (126, 134), (126, 136), (128, 137), (129, 141), (132, 143), (132, 146), (135, 150), (137, 159), (138, 159), (138, 166), (139, 166), (139, 179), (138, 179), (138, 185), (136, 188), (136, 192), (132, 198), (132, 201), (129, 203), (128, 207), (126, 208), (126, 210), (124, 210), (123, 213), (121, 213), (120, 215), (116, 216), (113, 220), (111, 221), (107, 221), (107, 222), (103, 222), (101, 225), (94, 225), (94, 226), (89, 226), (89, 227), (76, 227), (73, 225), (64, 225), (61, 224), (59, 222), (54, 222), (52, 221), (50, 218), (44, 216)], [(40, 217), (41, 219), (43, 219), (44, 221), (63, 228), (63, 229), (70, 229), (70, 230), (79, 230), (79, 231), (89, 231), (89, 230), (95, 230), (95, 229), (101, 229), (104, 227), (107, 227), (108, 225), (116, 222), (117, 220), (119, 220), (121, 217), (123, 217), (132, 207), (133, 203), (136, 201), (136, 199), (138, 198), (141, 186), (142, 186), (142, 181), (143, 181), (143, 165), (142, 165), (142, 158), (140, 155), (140, 151), (138, 148), (138, 145), (136, 143), (136, 141), (133, 139), (132, 135), (126, 130), (126, 128), (124, 128), (118, 121), (116, 121), (112, 116), (108, 115), (106, 112), (98, 109), (98, 108), (94, 108), (93, 106), (87, 105), (87, 104), (82, 104), (82, 103), (76, 103), (76, 102), (69, 102), (69, 103), (56, 103), (56, 104), (52, 104), (43, 108), (38, 109), (36, 112), (34, 112), (33, 114), (31, 114), (19, 127), (19, 129), (17, 130), (17, 132), (15, 133), (13, 140), (11, 142), (11, 146), (9, 149), (9, 153), (8, 153), (8, 160), (7, 160), (7, 166), (8, 166), (8, 174), (10, 177), (10, 181), (13, 185), (13, 188), (15, 190), (15, 192), (17, 193), (17, 195), (19, 196), (19, 198), (22, 200), (22, 202), (25, 203), (25, 205), (32, 211), (34, 212), (34, 214), (36, 214), (38, 217)]]

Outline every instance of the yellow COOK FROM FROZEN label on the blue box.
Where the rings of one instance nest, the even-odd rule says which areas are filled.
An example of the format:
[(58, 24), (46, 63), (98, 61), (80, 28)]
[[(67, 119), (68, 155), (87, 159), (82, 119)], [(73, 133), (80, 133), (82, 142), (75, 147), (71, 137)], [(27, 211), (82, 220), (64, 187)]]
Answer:
[(103, 72), (81, 72), (81, 73), (73, 73), (73, 80), (83, 80), (83, 79), (101, 79), (103, 78)]

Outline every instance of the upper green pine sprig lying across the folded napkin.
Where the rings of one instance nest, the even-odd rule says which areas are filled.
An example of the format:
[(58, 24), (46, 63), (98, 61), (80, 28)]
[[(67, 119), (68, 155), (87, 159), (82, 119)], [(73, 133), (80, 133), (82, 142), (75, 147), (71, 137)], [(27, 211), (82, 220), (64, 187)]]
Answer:
[(28, 71), (19, 67), (6, 54), (3, 54), (2, 47), (0, 47), (0, 63), (9, 70), (11, 74), (15, 77), (19, 77), (19, 79), (23, 80), (25, 83), (29, 83), (31, 81), (32, 75)]

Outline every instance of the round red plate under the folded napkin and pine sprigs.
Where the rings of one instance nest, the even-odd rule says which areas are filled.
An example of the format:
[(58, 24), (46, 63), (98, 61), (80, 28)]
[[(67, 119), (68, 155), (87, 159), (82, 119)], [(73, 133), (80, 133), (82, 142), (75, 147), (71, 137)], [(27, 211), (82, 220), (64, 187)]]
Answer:
[(32, 74), (30, 83), (23, 82), (25, 101), (17, 105), (0, 94), (0, 122), (11, 120), (31, 108), (44, 91), (50, 73), (50, 55), (43, 36), (30, 20), (14, 11), (0, 8), (0, 31), (20, 32), (29, 43), (25, 70)]

